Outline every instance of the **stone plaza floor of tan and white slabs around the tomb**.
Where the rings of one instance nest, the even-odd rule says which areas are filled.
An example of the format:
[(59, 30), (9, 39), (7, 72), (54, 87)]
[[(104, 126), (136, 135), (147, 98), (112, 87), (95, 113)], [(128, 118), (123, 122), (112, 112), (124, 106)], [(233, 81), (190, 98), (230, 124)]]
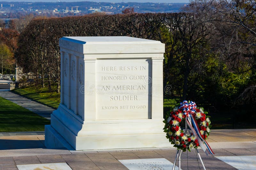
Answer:
[[(167, 139), (163, 139), (167, 140)], [(206, 169), (256, 169), (256, 129), (212, 130), (209, 139), (215, 155), (205, 155), (199, 149)], [(171, 169), (176, 148), (143, 148), (122, 150), (75, 151), (47, 149), (44, 132), (0, 133), (0, 169), (150, 169), (164, 160), (169, 165), (151, 169)], [(183, 152), (181, 169), (203, 169), (195, 150)], [(124, 160), (124, 161), (123, 161)], [(146, 163), (145, 163), (146, 162)], [(57, 164), (54, 164), (57, 163)], [(176, 166), (178, 166), (176, 163)], [(32, 164), (32, 165), (30, 165)], [(168, 167), (168, 168), (164, 168)]]

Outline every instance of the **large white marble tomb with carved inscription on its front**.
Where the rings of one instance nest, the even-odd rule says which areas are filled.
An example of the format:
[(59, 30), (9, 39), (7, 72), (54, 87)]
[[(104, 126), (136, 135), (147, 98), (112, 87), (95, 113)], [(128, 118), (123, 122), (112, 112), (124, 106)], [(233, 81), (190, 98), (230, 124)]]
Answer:
[(160, 41), (63, 37), (61, 100), (45, 126), (48, 148), (76, 150), (171, 146), (163, 132)]

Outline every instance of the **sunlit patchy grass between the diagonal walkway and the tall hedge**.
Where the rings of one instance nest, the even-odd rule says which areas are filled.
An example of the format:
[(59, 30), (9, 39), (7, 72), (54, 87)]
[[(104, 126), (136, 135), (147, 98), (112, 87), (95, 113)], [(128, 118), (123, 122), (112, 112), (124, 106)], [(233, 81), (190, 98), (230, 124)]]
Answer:
[(55, 109), (57, 109), (60, 104), (60, 93), (51, 93), (46, 87), (40, 89), (40, 91), (36, 91), (35, 87), (17, 88), (13, 89), (12, 92), (36, 100)]

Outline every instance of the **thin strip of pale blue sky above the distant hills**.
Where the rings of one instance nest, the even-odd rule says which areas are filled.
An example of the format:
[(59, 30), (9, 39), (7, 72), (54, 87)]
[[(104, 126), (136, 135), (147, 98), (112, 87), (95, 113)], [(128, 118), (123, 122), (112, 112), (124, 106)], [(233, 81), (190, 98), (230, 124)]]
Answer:
[[(5, 2), (57, 2), (57, 0), (0, 0)], [(78, 2), (78, 1), (92, 1), (92, 2), (153, 2), (153, 3), (189, 3), (189, 0), (60, 0), (60, 2)]]

